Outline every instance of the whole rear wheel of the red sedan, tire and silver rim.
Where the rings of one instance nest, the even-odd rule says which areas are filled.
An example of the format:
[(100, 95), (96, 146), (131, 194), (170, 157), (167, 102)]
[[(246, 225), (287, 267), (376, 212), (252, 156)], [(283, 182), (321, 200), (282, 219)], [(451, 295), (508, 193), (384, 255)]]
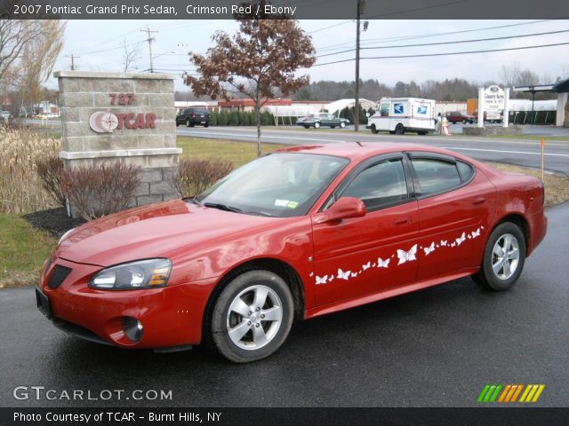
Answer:
[(517, 225), (504, 222), (488, 238), (480, 271), (473, 280), (484, 288), (503, 291), (512, 287), (525, 264), (525, 238)]

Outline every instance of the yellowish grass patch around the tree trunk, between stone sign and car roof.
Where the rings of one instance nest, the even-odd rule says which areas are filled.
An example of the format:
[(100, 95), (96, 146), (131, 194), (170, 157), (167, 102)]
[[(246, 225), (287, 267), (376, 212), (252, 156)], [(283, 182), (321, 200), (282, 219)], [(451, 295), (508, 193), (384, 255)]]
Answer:
[[(184, 158), (217, 158), (233, 162), (237, 168), (245, 162), (257, 158), (257, 144), (252, 142), (235, 142), (225, 139), (190, 138), (178, 137), (178, 147), (183, 149), (180, 159)], [(268, 144), (261, 145), (262, 154), (267, 154), (276, 149), (284, 148), (285, 145)]]

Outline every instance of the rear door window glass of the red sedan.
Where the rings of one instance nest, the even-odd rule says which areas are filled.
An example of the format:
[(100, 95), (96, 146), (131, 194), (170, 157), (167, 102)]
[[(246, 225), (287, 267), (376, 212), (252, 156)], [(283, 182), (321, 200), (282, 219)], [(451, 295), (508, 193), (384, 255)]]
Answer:
[(417, 195), (443, 193), (462, 183), (459, 170), (453, 162), (420, 158), (411, 162), (419, 180), (419, 188), (415, 188)]

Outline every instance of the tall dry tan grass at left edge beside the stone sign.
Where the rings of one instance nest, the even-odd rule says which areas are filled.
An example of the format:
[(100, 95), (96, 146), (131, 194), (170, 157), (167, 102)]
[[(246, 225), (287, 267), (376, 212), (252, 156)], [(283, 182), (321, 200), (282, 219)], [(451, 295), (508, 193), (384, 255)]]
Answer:
[(0, 126), (0, 212), (57, 207), (35, 172), (37, 162), (60, 151), (60, 140), (34, 130)]

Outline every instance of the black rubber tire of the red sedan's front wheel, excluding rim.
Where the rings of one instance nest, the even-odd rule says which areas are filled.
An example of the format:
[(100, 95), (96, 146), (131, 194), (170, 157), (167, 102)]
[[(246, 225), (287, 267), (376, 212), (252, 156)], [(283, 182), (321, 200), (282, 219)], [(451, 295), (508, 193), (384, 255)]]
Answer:
[[(263, 285), (276, 292), (282, 304), (283, 319), (275, 337), (268, 344), (260, 349), (248, 351), (236, 346), (229, 338), (227, 316), (229, 306), (235, 297), (245, 288), (254, 285)], [(209, 333), (215, 348), (225, 358), (239, 363), (256, 361), (268, 357), (284, 343), (293, 325), (293, 316), (293, 296), (282, 278), (276, 273), (262, 270), (244, 272), (231, 280), (221, 291), (212, 309)]]

